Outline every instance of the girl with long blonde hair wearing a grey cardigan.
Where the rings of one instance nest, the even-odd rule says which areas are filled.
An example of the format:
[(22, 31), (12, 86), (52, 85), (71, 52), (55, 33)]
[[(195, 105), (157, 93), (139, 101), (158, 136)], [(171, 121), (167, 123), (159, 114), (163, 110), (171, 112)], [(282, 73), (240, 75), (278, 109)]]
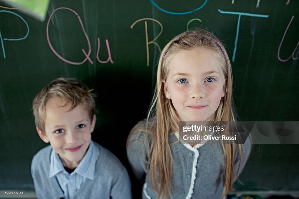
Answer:
[[(173, 38), (158, 63), (147, 120), (130, 132), (127, 155), (142, 198), (223, 198), (250, 152), (236, 144), (182, 144), (179, 121), (235, 121), (231, 63), (210, 32)], [(209, 141), (208, 141), (209, 142)]]

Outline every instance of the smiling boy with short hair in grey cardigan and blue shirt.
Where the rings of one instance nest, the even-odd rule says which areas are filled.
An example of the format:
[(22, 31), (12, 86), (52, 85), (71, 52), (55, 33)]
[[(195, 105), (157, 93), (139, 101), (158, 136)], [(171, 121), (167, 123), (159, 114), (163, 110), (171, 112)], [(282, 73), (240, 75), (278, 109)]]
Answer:
[(93, 95), (76, 79), (55, 79), (36, 95), (36, 130), (51, 144), (32, 160), (37, 198), (132, 198), (125, 167), (91, 141), (94, 113)]

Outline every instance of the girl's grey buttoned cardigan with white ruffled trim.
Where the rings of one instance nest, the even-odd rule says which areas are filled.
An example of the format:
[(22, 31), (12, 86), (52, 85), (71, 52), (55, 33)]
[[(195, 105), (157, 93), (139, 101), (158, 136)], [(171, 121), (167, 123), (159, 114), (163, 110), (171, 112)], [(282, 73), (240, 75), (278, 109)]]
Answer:
[[(221, 198), (223, 191), (224, 156), (222, 145), (219, 142), (208, 141), (202, 146), (191, 147), (181, 144), (175, 134), (170, 134), (169, 143), (173, 158), (171, 175), (171, 192), (173, 199), (183, 198)], [(149, 186), (147, 179), (147, 161), (149, 154), (150, 137), (144, 131), (135, 131), (129, 137), (127, 156), (137, 180), (145, 183), (142, 198), (155, 199), (157, 192)], [(176, 142), (176, 143), (175, 143)], [(239, 166), (239, 152), (234, 162), (234, 180), (242, 172), (251, 150), (251, 141), (245, 142), (244, 152)], [(198, 148), (197, 148), (198, 147)], [(170, 197), (168, 197), (170, 198)]]

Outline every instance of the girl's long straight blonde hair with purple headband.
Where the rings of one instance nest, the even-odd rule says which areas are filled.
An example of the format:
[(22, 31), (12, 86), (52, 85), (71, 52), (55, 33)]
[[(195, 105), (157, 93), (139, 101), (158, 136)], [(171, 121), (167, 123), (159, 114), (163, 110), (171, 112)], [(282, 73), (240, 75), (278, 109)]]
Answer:
[[(167, 99), (164, 94), (163, 81), (166, 81), (170, 68), (170, 60), (176, 55), (176, 52), (194, 48), (205, 48), (214, 52), (215, 59), (219, 60), (224, 71), (226, 92), (225, 96), (220, 100), (219, 107), (214, 113), (212, 121), (235, 121), (232, 98), (233, 77), (231, 62), (222, 43), (212, 33), (202, 29), (186, 31), (174, 37), (161, 52), (155, 93), (145, 125), (146, 131), (152, 135), (152, 142), (150, 142), (149, 146), (147, 177), (150, 186), (158, 193), (158, 198), (165, 198), (167, 195), (171, 197), (170, 182), (173, 160), (168, 138), (171, 133), (179, 131), (179, 119), (171, 100)], [(130, 134), (135, 130), (136, 128), (133, 128)], [(223, 168), (223, 197), (228, 191), (232, 190), (236, 150), (239, 148), (239, 154), (242, 154), (242, 146), (236, 144), (222, 144), (222, 148), (224, 151), (225, 165)], [(241, 155), (239, 161), (241, 162)], [(157, 175), (157, 173), (159, 175)]]

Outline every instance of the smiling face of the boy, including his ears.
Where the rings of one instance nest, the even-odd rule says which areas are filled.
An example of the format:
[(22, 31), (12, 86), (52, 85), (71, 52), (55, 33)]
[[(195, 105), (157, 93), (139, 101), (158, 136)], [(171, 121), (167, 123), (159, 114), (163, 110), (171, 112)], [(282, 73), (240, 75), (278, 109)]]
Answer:
[(78, 105), (69, 111), (70, 103), (51, 98), (46, 103), (45, 132), (36, 128), (39, 136), (59, 155), (62, 164), (74, 169), (84, 157), (91, 142), (96, 117), (90, 121), (88, 111)]

